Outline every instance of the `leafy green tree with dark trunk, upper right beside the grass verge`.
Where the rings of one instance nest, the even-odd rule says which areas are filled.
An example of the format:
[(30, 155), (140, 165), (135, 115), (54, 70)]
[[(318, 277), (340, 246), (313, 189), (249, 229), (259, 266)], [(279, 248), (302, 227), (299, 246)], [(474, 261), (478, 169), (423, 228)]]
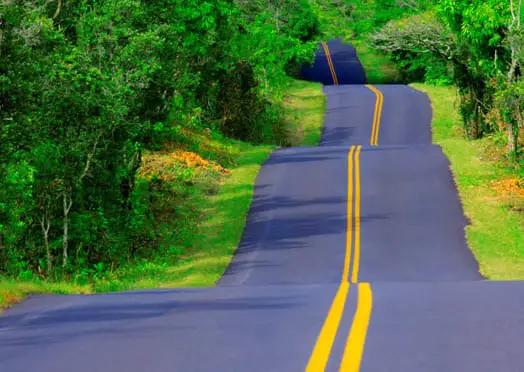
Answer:
[(510, 6), (503, 0), (442, 0), (437, 11), (455, 35), (454, 82), (462, 95), (461, 113), (467, 133), (478, 138), (490, 131), (483, 117), (493, 102), (491, 81), (506, 70), (509, 61), (503, 40)]

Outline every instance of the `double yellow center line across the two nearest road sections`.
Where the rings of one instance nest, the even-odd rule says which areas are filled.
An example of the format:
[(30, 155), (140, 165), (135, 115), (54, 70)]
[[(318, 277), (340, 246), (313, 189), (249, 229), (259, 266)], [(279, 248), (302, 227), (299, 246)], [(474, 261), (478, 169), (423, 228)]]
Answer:
[[(331, 304), (327, 318), (317, 338), (317, 342), (306, 367), (306, 372), (324, 371), (349, 294), (349, 273), (352, 265), (351, 283), (358, 283), (360, 262), (360, 152), (361, 146), (352, 146), (348, 154), (348, 202), (347, 202), (347, 235), (346, 255), (342, 280), (335, 299)], [(354, 224), (354, 225), (353, 225)], [(353, 229), (355, 235), (353, 236)], [(351, 262), (353, 251), (353, 262)], [(340, 371), (358, 371), (366, 342), (366, 333), (371, 317), (373, 296), (369, 283), (358, 283), (358, 304), (353, 323), (349, 330), (346, 346), (340, 364)]]

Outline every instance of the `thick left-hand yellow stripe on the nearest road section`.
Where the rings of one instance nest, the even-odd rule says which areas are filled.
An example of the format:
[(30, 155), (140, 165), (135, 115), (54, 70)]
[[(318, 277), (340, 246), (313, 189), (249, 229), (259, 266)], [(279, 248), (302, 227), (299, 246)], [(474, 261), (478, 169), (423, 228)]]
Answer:
[(346, 305), (348, 292), (349, 283), (344, 282), (340, 284), (337, 295), (329, 309), (326, 321), (322, 326), (322, 331), (320, 331), (318, 335), (317, 343), (306, 367), (306, 372), (320, 372), (326, 369), (331, 348), (337, 336), (338, 326), (344, 314), (344, 306)]

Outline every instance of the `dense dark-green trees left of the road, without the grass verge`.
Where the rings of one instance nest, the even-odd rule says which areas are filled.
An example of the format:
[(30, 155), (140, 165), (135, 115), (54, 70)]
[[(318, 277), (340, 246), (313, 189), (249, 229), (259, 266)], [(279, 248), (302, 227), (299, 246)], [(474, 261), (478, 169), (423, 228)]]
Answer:
[(161, 186), (137, 182), (143, 150), (202, 130), (286, 143), (286, 71), (315, 49), (306, 4), (3, 1), (0, 273), (176, 254), (153, 226)]

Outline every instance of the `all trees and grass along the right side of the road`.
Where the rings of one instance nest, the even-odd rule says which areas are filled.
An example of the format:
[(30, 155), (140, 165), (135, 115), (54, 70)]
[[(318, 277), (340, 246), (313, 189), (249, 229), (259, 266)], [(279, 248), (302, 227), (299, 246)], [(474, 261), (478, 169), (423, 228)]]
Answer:
[(482, 274), (524, 279), (522, 2), (317, 0), (315, 9), (326, 38), (357, 47), (370, 83), (429, 95)]

